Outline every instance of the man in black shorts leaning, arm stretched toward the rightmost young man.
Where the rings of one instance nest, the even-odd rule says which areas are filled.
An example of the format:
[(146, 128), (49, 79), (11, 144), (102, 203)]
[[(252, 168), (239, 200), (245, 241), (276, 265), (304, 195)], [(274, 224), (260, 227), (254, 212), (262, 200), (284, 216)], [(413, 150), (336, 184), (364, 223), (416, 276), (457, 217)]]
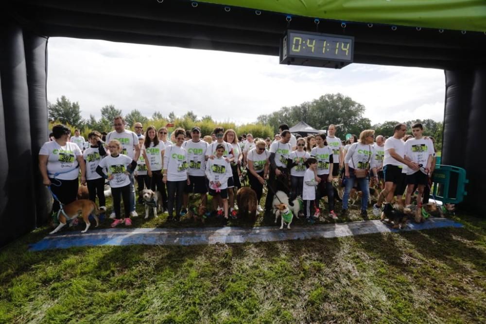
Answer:
[(385, 141), (385, 155), (383, 158), (383, 173), (385, 177), (385, 188), (380, 192), (378, 202), (373, 206), (373, 214), (379, 216), (381, 213), (382, 202), (385, 200), (390, 203), (397, 184), (402, 181), (402, 167), (406, 165), (414, 171), (418, 170), (418, 165), (405, 157), (405, 145), (401, 138), (407, 132), (405, 124), (397, 124), (392, 137)]

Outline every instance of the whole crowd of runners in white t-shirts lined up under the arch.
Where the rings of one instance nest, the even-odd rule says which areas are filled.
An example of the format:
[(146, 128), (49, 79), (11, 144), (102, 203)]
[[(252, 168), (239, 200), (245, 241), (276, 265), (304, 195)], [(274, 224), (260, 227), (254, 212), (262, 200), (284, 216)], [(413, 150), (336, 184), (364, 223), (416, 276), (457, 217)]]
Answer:
[[(370, 180), (382, 189), (373, 208), (378, 213), (383, 202), (390, 202), (400, 190), (403, 194), (406, 185), (408, 203), (416, 189), (421, 197), (434, 165), (434, 145), (431, 138), (422, 136), (421, 124), (413, 125), (413, 138), (406, 142), (404, 124), (398, 124), (394, 135), (386, 140), (383, 136), (375, 138), (373, 130), (364, 130), (346, 142), (335, 136), (334, 125), (329, 126), (327, 134), (302, 137), (294, 136), (288, 125), (282, 124), (273, 141), (251, 134), (238, 136), (234, 130), (221, 127), (204, 138), (199, 127), (176, 128), (169, 140), (166, 127), (149, 126), (144, 130), (138, 122), (130, 131), (125, 129), (122, 117), (115, 118), (113, 126), (115, 130), (106, 136), (90, 132), (86, 142), (79, 130), (70, 136), (68, 128), (56, 125), (51, 141), (39, 152), (43, 182), (63, 204), (76, 199), (80, 175), (81, 183), (87, 183), (89, 199), (95, 201), (98, 197), (100, 209), (106, 210), (104, 186), (109, 183), (113, 227), (131, 225), (131, 217), (138, 216), (136, 203), (144, 203), (144, 188), (160, 191), (169, 221), (178, 221), (187, 213), (191, 194), (199, 194), (203, 206), (209, 194), (213, 206), (206, 206), (208, 216), (216, 215), (226, 222), (237, 217), (236, 191), (246, 182), (257, 194), (259, 213), (270, 215), (273, 196), (281, 190), (289, 196), (290, 204), (297, 197), (303, 200), (308, 219), (319, 216), (324, 196), (328, 197), (329, 217), (338, 219), (334, 200), (339, 198), (333, 182), (344, 187), (340, 216), (347, 217), (349, 193), (358, 187), (363, 193), (361, 215), (367, 219)], [(59, 209), (58, 201), (54, 202), (53, 212)]]

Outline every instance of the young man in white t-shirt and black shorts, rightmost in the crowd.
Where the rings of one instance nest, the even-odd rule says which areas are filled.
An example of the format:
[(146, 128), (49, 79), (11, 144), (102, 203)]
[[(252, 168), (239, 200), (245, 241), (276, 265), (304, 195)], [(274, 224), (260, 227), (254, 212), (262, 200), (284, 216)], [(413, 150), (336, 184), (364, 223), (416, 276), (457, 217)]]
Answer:
[(434, 143), (432, 143), (430, 138), (425, 139), (422, 136), (423, 126), (421, 123), (416, 123), (412, 126), (412, 133), (415, 138), (411, 138), (405, 142), (405, 157), (417, 163), (420, 170), (407, 170), (406, 180), (408, 187), (405, 204), (410, 204), (415, 186), (417, 186), (417, 206), (420, 206), (422, 204), (424, 188), (429, 182), (429, 173), (432, 161), (434, 160)]

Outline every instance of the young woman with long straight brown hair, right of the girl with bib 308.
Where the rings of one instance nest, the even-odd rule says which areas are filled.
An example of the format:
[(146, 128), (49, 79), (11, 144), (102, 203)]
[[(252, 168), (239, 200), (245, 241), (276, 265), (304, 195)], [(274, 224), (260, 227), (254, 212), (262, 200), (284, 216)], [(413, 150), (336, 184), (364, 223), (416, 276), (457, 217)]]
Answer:
[[(147, 127), (145, 131), (145, 141), (141, 149), (145, 165), (147, 167), (147, 176), (149, 177), (151, 190), (158, 190), (162, 194), (163, 202), (167, 202), (165, 185), (162, 182), (162, 167), (164, 162), (165, 144), (157, 137), (155, 126)], [(139, 189), (140, 190), (140, 189)], [(163, 205), (167, 208), (167, 205)]]

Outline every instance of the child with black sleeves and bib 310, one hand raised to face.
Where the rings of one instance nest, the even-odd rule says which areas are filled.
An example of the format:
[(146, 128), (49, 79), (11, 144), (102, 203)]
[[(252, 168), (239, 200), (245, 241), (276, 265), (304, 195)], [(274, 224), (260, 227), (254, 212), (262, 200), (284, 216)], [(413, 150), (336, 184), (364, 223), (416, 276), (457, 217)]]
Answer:
[(91, 144), (83, 153), (86, 162), (86, 183), (88, 187), (89, 200), (96, 203), (96, 196), (100, 203), (100, 209), (106, 211), (106, 200), (104, 198), (104, 178), (96, 173), (96, 168), (100, 161), (106, 155), (101, 134), (97, 131), (88, 134), (88, 140)]

